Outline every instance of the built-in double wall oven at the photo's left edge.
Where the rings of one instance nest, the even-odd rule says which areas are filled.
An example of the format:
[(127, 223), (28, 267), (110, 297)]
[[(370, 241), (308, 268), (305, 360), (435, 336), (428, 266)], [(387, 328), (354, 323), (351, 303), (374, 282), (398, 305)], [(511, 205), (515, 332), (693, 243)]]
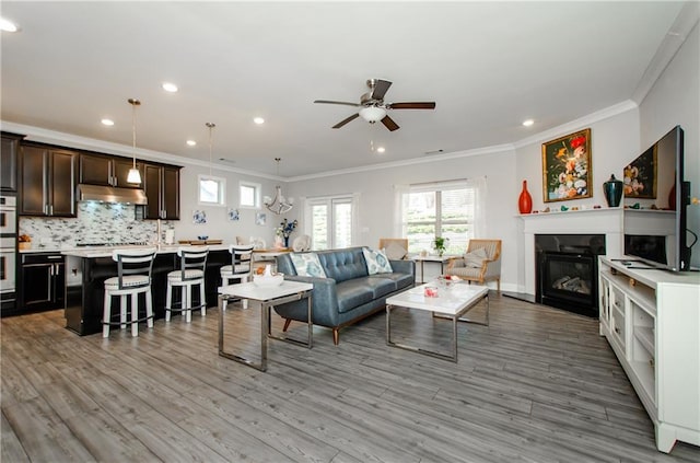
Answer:
[(16, 198), (0, 196), (0, 315), (16, 311)]

